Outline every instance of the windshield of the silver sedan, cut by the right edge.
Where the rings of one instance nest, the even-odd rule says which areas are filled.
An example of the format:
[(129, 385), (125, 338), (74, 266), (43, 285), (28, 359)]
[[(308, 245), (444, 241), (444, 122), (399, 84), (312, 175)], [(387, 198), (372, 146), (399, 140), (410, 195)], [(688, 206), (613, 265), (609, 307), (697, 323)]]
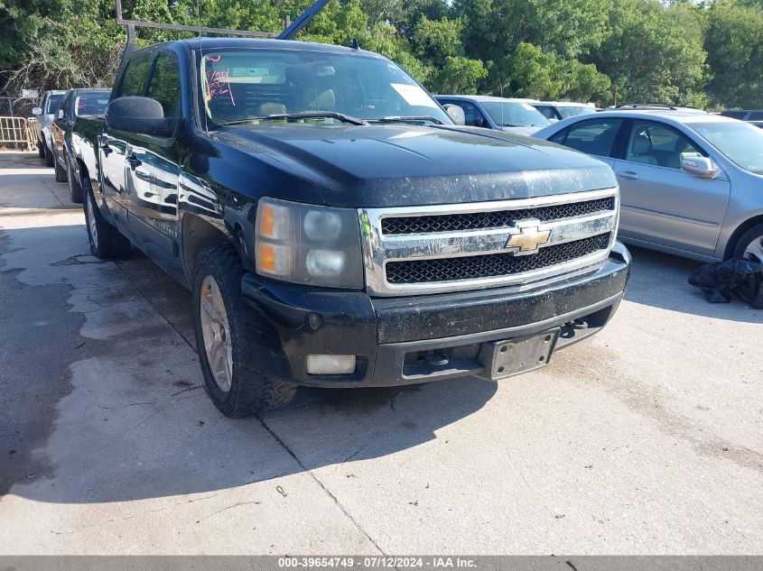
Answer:
[(757, 127), (736, 121), (689, 126), (742, 169), (763, 174), (763, 131)]

